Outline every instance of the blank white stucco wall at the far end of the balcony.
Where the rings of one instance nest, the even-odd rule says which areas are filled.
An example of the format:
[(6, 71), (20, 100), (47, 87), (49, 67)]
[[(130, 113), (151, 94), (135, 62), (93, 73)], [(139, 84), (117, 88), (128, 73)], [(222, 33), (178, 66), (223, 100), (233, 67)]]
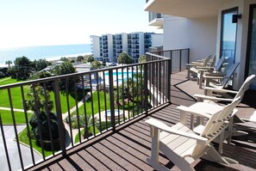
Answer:
[(190, 61), (216, 52), (217, 17), (185, 19), (164, 16), (164, 49), (190, 48)]

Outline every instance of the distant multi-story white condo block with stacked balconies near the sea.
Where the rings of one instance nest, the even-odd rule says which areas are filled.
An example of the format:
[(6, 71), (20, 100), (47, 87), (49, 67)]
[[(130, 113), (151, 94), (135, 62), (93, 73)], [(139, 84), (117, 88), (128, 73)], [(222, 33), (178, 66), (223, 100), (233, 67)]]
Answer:
[(97, 60), (105, 62), (116, 62), (122, 52), (127, 52), (133, 62), (137, 63), (140, 56), (151, 51), (152, 46), (162, 45), (162, 34), (134, 32), (91, 36), (91, 53)]

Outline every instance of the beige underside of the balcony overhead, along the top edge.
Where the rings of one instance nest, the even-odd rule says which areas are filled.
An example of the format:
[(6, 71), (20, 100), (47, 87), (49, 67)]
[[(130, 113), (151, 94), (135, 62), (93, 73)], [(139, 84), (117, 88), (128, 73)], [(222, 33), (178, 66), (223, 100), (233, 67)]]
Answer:
[[(225, 0), (225, 3), (234, 0)], [(216, 16), (223, 0), (149, 0), (145, 10), (184, 18)]]

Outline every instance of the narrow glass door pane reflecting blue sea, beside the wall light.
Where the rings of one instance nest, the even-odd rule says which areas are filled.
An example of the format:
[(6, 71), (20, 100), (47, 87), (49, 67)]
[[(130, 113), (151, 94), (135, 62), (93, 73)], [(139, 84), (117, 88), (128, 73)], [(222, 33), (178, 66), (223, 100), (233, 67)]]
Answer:
[(223, 72), (227, 72), (235, 58), (235, 41), (237, 23), (233, 20), (237, 15), (238, 8), (222, 11), (222, 38), (221, 38), (221, 58), (225, 58), (223, 63)]

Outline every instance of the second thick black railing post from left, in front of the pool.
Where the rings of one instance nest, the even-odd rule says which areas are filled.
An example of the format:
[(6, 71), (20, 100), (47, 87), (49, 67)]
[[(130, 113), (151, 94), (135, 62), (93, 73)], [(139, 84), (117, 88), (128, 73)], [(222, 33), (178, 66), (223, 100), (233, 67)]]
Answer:
[(111, 126), (112, 126), (112, 130), (116, 131), (114, 98), (115, 97), (114, 97), (113, 70), (109, 70), (109, 101), (110, 101), (110, 113), (111, 113)]

